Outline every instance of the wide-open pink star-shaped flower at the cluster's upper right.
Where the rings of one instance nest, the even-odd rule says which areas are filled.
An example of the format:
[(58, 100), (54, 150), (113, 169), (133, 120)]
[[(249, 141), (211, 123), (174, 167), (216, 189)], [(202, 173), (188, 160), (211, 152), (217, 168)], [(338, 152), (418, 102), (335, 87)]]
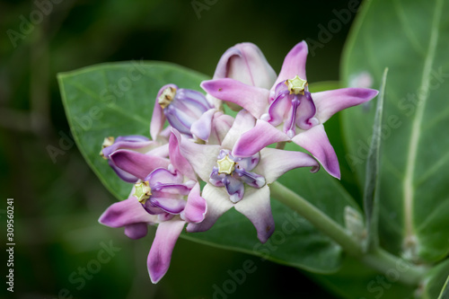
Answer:
[(309, 92), (305, 75), (307, 52), (307, 44), (302, 41), (287, 54), (270, 90), (229, 78), (205, 81), (201, 86), (211, 96), (238, 104), (258, 119), (255, 128), (236, 142), (234, 156), (251, 156), (267, 145), (293, 141), (339, 178), (339, 161), (323, 123), (339, 110), (370, 101), (378, 92), (368, 88)]

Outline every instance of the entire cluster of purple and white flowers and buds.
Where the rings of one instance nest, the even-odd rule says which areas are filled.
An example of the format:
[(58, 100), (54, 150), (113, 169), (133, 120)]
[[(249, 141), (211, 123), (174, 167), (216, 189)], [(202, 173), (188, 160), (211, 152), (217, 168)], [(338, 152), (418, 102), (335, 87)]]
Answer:
[[(260, 48), (237, 44), (225, 51), (207, 94), (167, 83), (156, 95), (145, 136), (105, 138), (101, 156), (134, 184), (128, 199), (111, 205), (100, 223), (124, 227), (132, 239), (157, 224), (147, 259), (157, 283), (167, 272), (185, 224), (204, 232), (234, 207), (254, 224), (260, 242), (274, 232), (269, 185), (286, 171), (320, 164), (339, 179), (339, 162), (323, 123), (339, 110), (370, 101), (377, 91), (343, 88), (309, 92), (306, 43), (286, 56), (277, 76)], [(240, 110), (235, 119), (223, 105)], [(168, 122), (168, 126), (165, 123)], [(164, 128), (165, 127), (165, 128)], [(286, 151), (294, 142), (310, 154)], [(277, 144), (277, 148), (267, 147)], [(201, 189), (199, 182), (206, 183)]]

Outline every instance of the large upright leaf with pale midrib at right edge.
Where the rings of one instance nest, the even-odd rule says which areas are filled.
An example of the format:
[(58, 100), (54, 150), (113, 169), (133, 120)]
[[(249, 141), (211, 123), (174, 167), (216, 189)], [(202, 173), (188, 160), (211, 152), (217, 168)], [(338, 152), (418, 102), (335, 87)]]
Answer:
[[(449, 251), (449, 11), (447, 0), (372, 0), (343, 59), (347, 84), (380, 85), (389, 67), (380, 170), (383, 246), (427, 262)], [(343, 113), (346, 158), (363, 185), (373, 103)]]

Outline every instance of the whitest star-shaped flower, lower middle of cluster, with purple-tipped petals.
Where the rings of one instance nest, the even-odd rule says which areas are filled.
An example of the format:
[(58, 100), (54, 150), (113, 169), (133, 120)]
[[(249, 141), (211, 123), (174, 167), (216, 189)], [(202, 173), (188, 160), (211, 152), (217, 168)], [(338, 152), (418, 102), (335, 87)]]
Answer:
[(233, 127), (222, 145), (198, 145), (182, 138), (180, 152), (192, 165), (201, 180), (207, 182), (201, 196), (207, 201), (207, 215), (203, 222), (189, 224), (188, 232), (207, 231), (216, 219), (235, 207), (256, 227), (260, 242), (266, 242), (275, 224), (269, 203), (269, 184), (286, 171), (319, 164), (309, 154), (275, 148), (263, 148), (260, 153), (245, 158), (231, 152), (242, 134), (256, 123), (249, 112), (237, 114)]

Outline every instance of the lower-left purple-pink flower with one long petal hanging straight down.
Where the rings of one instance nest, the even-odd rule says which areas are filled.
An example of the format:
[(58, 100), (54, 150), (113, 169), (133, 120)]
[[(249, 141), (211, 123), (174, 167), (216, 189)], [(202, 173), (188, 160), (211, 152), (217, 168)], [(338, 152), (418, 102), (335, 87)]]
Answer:
[[(154, 284), (170, 267), (172, 251), (184, 225), (201, 223), (207, 213), (196, 174), (180, 154), (180, 140), (180, 133), (172, 128), (170, 161), (123, 149), (110, 154), (110, 160), (140, 180), (129, 198), (106, 209), (99, 221), (110, 227), (124, 226), (132, 239), (144, 237), (148, 224), (159, 224), (147, 259)], [(113, 146), (110, 143), (113, 140), (107, 140), (107, 145)]]

